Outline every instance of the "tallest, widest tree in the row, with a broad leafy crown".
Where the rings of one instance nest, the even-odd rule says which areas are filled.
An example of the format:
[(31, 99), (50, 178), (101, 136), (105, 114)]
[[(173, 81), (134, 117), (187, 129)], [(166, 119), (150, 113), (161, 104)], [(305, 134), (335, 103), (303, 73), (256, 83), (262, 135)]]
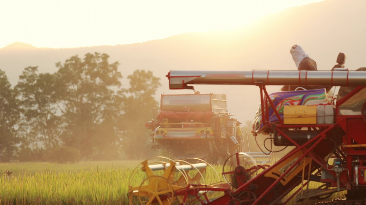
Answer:
[(116, 126), (122, 97), (113, 88), (121, 86), (122, 75), (119, 63), (108, 59), (107, 54), (87, 53), (84, 59), (76, 55), (56, 63), (56, 96), (65, 124), (60, 138), (85, 159), (114, 158), (119, 151)]

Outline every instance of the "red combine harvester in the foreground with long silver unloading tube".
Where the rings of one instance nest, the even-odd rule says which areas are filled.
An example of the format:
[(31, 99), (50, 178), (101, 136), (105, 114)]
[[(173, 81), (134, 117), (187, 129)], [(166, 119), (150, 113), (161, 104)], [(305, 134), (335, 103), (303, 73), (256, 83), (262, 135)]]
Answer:
[[(295, 196), (297, 202), (309, 198), (325, 200), (333, 193), (343, 191), (345, 199), (318, 204), (366, 204), (366, 72), (365, 68), (344, 69), (344, 55), (341, 54), (337, 63), (332, 71), (168, 73), (170, 89), (189, 89), (188, 85), (192, 84), (258, 86), (261, 105), (253, 126), (254, 134), (269, 134), (277, 146), (294, 146), (272, 166), (242, 166), (241, 154), (236, 153), (237, 166), (222, 173), (230, 174), (234, 181), (210, 187), (210, 191), (222, 195), (213, 199), (206, 197), (205, 204), (276, 205), (286, 204)], [(300, 86), (308, 90), (268, 94), (268, 85)], [(339, 92), (336, 98), (329, 99), (326, 90), (332, 86), (339, 88)], [(170, 164), (174, 163), (177, 166), (177, 162)], [(310, 189), (309, 183), (319, 187)], [(228, 185), (230, 188), (223, 190)], [(146, 204), (187, 204), (178, 200), (181, 194), (197, 198), (208, 191), (194, 192), (194, 186), (183, 186), (186, 189), (183, 193), (159, 196), (171, 197), (170, 201), (160, 203), (161, 200), (149, 198)], [(130, 190), (132, 195), (132, 188)]]

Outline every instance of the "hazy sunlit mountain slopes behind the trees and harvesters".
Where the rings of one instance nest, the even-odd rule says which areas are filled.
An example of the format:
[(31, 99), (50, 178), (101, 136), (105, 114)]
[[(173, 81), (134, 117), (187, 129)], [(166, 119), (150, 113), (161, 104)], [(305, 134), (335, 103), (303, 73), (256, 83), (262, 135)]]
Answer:
[[(153, 71), (162, 84), (156, 92), (157, 101), (161, 93), (192, 93), (169, 90), (165, 77), (169, 70), (296, 70), (289, 52), (294, 44), (301, 45), (317, 62), (318, 70), (332, 69), (339, 52), (347, 55), (345, 67), (356, 70), (366, 67), (364, 8), (363, 0), (325, 0), (285, 9), (237, 30), (187, 33), (131, 45), (49, 49), (18, 42), (0, 49), (0, 69), (14, 86), (27, 66), (38, 66), (40, 73), (54, 73), (56, 62), (73, 55), (107, 53), (111, 62), (120, 63), (123, 86), (128, 86), (126, 77), (134, 70)], [(201, 93), (226, 94), (228, 111), (236, 119), (242, 123), (254, 120), (260, 102), (256, 86), (194, 87)], [(272, 93), (279, 88), (268, 86), (267, 90)], [(143, 124), (136, 126), (143, 129)]]

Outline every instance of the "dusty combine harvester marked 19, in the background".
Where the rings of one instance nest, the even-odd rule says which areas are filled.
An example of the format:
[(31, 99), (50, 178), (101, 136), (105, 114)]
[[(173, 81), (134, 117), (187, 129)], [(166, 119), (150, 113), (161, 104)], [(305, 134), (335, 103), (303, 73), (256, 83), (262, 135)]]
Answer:
[(152, 148), (175, 159), (195, 157), (213, 164), (245, 151), (241, 123), (228, 113), (226, 95), (194, 92), (161, 95), (159, 115), (145, 123), (153, 131)]

